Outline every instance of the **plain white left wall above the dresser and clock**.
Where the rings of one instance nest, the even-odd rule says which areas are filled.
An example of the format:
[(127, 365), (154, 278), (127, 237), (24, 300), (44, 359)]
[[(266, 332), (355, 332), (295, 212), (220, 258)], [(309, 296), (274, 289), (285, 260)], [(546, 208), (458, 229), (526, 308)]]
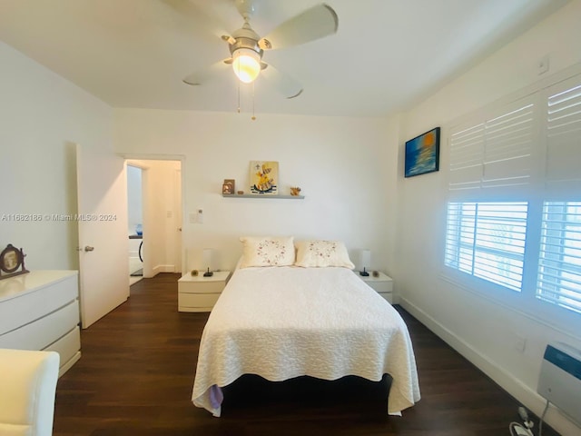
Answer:
[[(0, 42), (0, 249), (24, 248), (29, 270), (77, 269), (74, 144), (112, 150), (111, 108)], [(15, 222), (12, 214), (42, 221)]]

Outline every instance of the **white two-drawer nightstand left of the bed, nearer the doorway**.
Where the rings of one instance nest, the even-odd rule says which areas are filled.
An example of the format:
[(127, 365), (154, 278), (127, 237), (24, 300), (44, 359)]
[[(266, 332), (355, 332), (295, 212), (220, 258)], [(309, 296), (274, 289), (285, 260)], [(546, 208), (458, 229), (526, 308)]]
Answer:
[(220, 297), (230, 271), (216, 271), (212, 277), (187, 273), (178, 280), (178, 312), (210, 312)]

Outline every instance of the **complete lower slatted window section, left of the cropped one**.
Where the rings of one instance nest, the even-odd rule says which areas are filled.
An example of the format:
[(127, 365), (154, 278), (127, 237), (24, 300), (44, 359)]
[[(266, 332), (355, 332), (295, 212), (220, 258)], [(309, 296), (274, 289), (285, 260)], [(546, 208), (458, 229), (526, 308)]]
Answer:
[(527, 203), (448, 203), (445, 263), (520, 292)]

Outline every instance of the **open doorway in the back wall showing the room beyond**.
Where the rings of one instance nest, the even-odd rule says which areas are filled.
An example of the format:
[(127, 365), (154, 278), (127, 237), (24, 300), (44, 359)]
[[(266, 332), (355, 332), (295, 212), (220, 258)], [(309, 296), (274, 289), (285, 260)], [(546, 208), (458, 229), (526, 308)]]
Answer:
[[(182, 161), (128, 159), (130, 284), (182, 272)], [(140, 234), (141, 233), (141, 234)]]

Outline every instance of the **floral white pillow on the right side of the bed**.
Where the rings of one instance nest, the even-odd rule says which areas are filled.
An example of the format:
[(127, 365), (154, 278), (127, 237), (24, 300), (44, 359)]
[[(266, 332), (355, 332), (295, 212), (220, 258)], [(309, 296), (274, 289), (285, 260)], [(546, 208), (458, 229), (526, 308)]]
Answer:
[(342, 266), (353, 269), (345, 244), (340, 241), (300, 241), (296, 243), (297, 266)]

